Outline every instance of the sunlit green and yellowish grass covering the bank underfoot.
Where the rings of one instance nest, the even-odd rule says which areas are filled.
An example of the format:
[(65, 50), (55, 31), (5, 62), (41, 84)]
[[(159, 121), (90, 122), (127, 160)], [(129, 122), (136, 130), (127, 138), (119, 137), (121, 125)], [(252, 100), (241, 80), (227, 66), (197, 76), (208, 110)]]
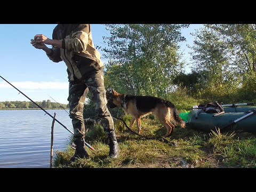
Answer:
[[(124, 116), (130, 125), (131, 116)], [(121, 121), (115, 122), (120, 156), (108, 157), (107, 135), (99, 124), (86, 134), (85, 140), (96, 151), (88, 149), (90, 158), (67, 165), (75, 150), (57, 151), (54, 167), (256, 167), (256, 139), (250, 133), (210, 134), (175, 127), (170, 138), (162, 139), (165, 127), (155, 118), (142, 119), (142, 135), (128, 132)], [(137, 126), (132, 127), (137, 131)]]

